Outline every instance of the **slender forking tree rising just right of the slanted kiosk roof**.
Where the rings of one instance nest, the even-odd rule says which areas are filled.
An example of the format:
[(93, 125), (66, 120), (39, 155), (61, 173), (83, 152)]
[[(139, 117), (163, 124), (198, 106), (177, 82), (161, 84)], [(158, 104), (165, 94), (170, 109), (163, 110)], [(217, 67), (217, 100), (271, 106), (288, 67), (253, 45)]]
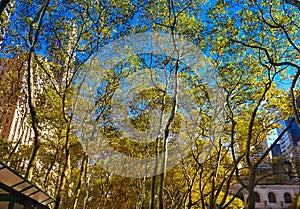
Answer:
[[(109, 39), (112, 27), (120, 24), (118, 21), (125, 21), (126, 15), (128, 15), (127, 11), (123, 11), (122, 14), (113, 11), (118, 7), (129, 7), (126, 3), (118, 6), (114, 4), (105, 6), (99, 1), (98, 5), (93, 7), (91, 4), (90, 1), (65, 4), (61, 9), (71, 12), (73, 16), (62, 16), (60, 11), (58, 13), (54, 12), (50, 14), (49, 22), (45, 26), (45, 31), (50, 30), (49, 34), (53, 41), (52, 44), (49, 43), (48, 45), (52, 65), (46, 65), (43, 69), (55, 92), (60, 97), (60, 111), (64, 121), (60, 130), (64, 129), (66, 131), (64, 145), (66, 156), (56, 196), (58, 200), (56, 208), (65, 194), (66, 181), (71, 168), (70, 139), (73, 135), (71, 127), (73, 115), (70, 115), (69, 111), (74, 108), (72, 102), (74, 102), (73, 93), (75, 92), (72, 83), (76, 75), (82, 71), (83, 64), (97, 52), (106, 39)], [(78, 10), (82, 10), (84, 13), (77, 13)], [(121, 15), (121, 17), (115, 18), (114, 15)], [(60, 19), (65, 24), (54, 25), (53, 30), (51, 19)], [(72, 33), (66, 34), (66, 30), (71, 30)], [(39, 62), (42, 63), (41, 60)], [(85, 161), (88, 160), (86, 157), (84, 159)], [(83, 164), (86, 163), (83, 162)], [(81, 169), (80, 176), (83, 175), (84, 170)], [(78, 193), (76, 196), (78, 196)], [(78, 199), (75, 198), (74, 201), (77, 202)], [(74, 205), (76, 206), (76, 203)]]

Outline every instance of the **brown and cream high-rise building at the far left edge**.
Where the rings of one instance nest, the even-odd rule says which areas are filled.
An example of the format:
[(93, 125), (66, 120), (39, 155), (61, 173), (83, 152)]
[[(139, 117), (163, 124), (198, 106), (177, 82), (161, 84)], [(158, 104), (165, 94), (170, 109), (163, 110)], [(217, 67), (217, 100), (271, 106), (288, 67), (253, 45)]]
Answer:
[(25, 61), (17, 56), (0, 60), (0, 139), (26, 144), (33, 136), (28, 123)]

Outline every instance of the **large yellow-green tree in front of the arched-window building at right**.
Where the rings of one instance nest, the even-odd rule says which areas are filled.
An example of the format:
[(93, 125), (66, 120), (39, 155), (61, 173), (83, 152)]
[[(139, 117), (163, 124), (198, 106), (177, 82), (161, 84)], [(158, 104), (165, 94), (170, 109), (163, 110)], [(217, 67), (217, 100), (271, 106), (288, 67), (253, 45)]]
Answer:
[[(247, 165), (249, 182), (239, 182), (248, 191), (248, 208), (255, 207), (253, 191), (260, 181), (256, 179), (258, 165), (267, 157), (289, 126), (269, 148), (263, 150), (257, 161), (252, 156), (255, 152), (260, 153), (259, 149), (262, 148), (271, 129), (280, 126), (279, 120), (285, 120), (285, 115), (291, 115), (291, 105), (294, 117), (298, 120), (294, 88), (299, 67), (292, 56), (297, 56), (298, 53), (294, 43), (297, 38), (297, 23), (294, 20), (298, 17), (295, 13), (293, 15), (292, 7), (289, 9), (285, 3), (272, 1), (217, 4), (211, 10), (211, 18), (216, 22), (215, 26), (209, 28), (216, 37), (212, 52), (217, 57), (215, 64), (221, 69), (221, 75), (227, 82), (224, 89), (227, 94), (228, 117), (231, 121), (232, 157), (237, 179), (241, 175), (238, 165)], [(238, 57), (238, 60), (234, 61), (233, 56)], [(233, 61), (223, 62), (224, 58)], [(291, 74), (291, 68), (296, 69), (296, 73), (291, 83), (293, 101), (289, 102), (286, 99), (289, 93), (279, 85), (285, 80), (285, 76)], [(252, 77), (251, 73), (255, 77)], [(271, 115), (274, 112), (279, 114), (274, 117)], [(245, 124), (247, 128), (244, 129)], [(239, 145), (238, 149), (236, 145)], [(243, 160), (238, 160), (242, 158), (236, 156), (243, 156)]]

